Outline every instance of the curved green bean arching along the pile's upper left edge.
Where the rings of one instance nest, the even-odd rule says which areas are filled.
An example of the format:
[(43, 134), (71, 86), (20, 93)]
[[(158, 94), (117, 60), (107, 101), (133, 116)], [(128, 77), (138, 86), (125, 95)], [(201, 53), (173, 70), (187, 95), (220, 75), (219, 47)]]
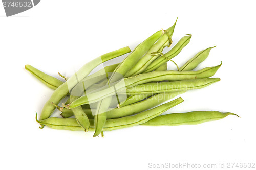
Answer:
[[(44, 120), (49, 118), (50, 115), (55, 110), (55, 106), (51, 104), (51, 102), (58, 104), (65, 96), (69, 93), (69, 89), (73, 88), (80, 80), (84, 77), (88, 76), (90, 72), (102, 62), (111, 60), (115, 57), (121, 56), (123, 54), (129, 53), (131, 50), (129, 47), (124, 47), (114, 52), (110, 52), (104, 54), (89, 63), (85, 64), (82, 68), (80, 68), (75, 75), (70, 77), (65, 83), (60, 85), (52, 94), (51, 98), (46, 102), (44, 108), (42, 109), (40, 120)], [(78, 82), (77, 82), (78, 79)], [(43, 126), (42, 126), (43, 127)]]

